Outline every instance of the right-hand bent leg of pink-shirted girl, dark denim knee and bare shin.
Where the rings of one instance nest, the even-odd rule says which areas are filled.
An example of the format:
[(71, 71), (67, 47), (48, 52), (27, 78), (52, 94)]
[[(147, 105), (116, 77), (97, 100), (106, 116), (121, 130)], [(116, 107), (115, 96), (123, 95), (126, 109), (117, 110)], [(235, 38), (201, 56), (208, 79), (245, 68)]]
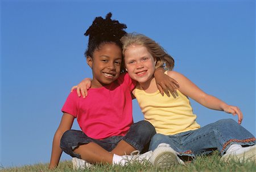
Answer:
[(127, 134), (112, 150), (112, 153), (123, 155), (130, 154), (135, 150), (141, 152), (144, 146), (150, 142), (155, 133), (155, 128), (150, 122), (139, 121), (134, 123)]

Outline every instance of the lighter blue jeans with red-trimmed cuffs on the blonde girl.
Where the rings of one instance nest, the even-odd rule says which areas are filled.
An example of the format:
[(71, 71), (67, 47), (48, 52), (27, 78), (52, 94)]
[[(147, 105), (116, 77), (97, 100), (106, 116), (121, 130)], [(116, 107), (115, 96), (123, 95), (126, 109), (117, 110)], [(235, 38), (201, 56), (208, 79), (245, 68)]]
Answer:
[(255, 137), (233, 119), (221, 119), (197, 130), (168, 136), (156, 134), (150, 142), (150, 150), (154, 151), (160, 143), (170, 144), (179, 156), (193, 158), (215, 150), (223, 155), (231, 144), (254, 145)]

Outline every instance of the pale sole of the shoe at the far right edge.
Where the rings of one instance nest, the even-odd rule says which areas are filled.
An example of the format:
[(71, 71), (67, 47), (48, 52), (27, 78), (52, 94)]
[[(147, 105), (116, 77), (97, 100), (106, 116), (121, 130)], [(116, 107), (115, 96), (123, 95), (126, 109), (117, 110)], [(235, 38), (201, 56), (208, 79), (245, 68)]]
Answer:
[(254, 161), (256, 162), (256, 145), (253, 145), (251, 149), (248, 151), (241, 153), (241, 154), (224, 154), (224, 156), (221, 157), (222, 161)]

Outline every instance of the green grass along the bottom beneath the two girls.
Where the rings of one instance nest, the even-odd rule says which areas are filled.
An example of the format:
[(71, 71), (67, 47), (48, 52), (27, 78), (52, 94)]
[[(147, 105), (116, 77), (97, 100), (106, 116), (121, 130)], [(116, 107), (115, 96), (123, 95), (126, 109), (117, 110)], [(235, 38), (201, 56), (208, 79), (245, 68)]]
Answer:
[(192, 162), (186, 162), (185, 165), (175, 165), (168, 169), (159, 169), (150, 163), (130, 164), (125, 167), (112, 165), (94, 165), (92, 169), (73, 170), (71, 161), (60, 162), (55, 170), (48, 170), (48, 164), (26, 165), (22, 167), (3, 168), (0, 171), (256, 171), (255, 162), (222, 162), (220, 155), (214, 152), (211, 156), (199, 156)]

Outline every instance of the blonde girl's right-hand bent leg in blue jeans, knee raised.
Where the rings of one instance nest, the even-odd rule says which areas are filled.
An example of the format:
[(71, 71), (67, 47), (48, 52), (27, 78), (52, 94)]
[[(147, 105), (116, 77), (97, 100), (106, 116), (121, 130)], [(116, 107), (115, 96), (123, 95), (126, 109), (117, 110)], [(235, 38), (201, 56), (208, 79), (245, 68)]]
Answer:
[(231, 144), (255, 144), (255, 137), (233, 119), (221, 119), (180, 135), (184, 148), (195, 154), (208, 154), (217, 149), (223, 155)]

